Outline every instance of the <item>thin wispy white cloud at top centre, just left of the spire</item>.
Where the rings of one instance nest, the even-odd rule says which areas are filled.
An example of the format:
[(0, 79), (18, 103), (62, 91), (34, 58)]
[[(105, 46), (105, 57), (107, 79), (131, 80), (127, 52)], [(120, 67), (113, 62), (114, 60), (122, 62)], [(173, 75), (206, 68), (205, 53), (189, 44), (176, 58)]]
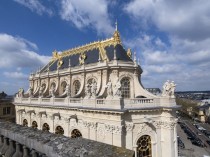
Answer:
[(106, 0), (62, 0), (60, 15), (79, 29), (92, 27), (98, 34), (109, 35), (114, 28), (109, 19), (108, 5)]

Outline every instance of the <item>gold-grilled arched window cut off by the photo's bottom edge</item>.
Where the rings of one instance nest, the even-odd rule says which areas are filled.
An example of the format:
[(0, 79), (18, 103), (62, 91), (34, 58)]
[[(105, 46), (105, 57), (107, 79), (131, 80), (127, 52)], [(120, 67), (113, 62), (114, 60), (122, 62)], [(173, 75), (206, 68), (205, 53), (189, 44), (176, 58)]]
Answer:
[(151, 138), (144, 135), (137, 141), (137, 157), (152, 157)]

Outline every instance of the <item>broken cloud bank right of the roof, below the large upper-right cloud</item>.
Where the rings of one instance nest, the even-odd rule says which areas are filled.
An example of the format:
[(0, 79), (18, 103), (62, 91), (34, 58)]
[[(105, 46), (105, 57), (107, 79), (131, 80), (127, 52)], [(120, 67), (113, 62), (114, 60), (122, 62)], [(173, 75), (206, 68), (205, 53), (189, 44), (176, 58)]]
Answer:
[[(160, 41), (157, 43), (157, 40)], [(210, 39), (195, 42), (170, 36), (169, 42), (167, 45), (147, 34), (125, 42), (141, 58), (144, 86), (162, 87), (169, 79), (176, 81), (178, 90), (208, 90)]]

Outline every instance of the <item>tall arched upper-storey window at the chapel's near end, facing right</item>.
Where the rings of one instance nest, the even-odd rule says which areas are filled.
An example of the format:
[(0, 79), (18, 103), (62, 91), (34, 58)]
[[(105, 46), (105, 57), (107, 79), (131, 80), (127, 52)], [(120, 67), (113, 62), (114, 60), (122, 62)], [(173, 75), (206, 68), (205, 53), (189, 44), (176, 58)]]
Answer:
[(121, 81), (121, 93), (123, 98), (130, 98), (130, 79), (123, 78)]

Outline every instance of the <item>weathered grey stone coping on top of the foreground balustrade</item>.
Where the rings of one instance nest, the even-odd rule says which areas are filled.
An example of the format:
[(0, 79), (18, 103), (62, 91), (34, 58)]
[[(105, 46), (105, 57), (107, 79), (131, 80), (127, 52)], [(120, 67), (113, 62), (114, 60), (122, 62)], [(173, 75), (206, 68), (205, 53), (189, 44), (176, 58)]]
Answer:
[(134, 151), (84, 139), (69, 138), (0, 121), (0, 135), (49, 157), (133, 157)]

